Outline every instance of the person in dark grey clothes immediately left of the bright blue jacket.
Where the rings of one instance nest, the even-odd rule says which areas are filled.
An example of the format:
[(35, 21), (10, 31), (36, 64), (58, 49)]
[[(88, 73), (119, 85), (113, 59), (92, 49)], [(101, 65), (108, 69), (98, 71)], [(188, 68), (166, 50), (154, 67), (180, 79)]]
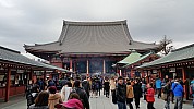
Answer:
[(169, 80), (166, 80), (166, 85), (162, 87), (162, 93), (166, 95), (165, 97), (165, 109), (170, 109), (170, 93), (171, 93), (171, 82)]

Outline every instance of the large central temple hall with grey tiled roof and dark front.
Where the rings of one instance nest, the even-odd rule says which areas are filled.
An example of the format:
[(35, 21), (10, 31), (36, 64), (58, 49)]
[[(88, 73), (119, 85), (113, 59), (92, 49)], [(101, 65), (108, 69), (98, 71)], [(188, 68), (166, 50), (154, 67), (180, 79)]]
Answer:
[(129, 56), (157, 51), (158, 45), (135, 41), (126, 21), (70, 22), (63, 21), (58, 40), (24, 45), (27, 52), (50, 61), (51, 64), (76, 73), (113, 73), (112, 64)]

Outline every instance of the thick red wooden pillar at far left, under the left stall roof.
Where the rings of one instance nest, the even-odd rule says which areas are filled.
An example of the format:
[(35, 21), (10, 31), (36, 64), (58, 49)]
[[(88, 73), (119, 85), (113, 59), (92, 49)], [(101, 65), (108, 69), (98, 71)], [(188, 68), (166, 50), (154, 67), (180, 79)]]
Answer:
[(7, 102), (9, 100), (9, 96), (10, 96), (10, 82), (11, 80), (11, 69), (8, 69), (8, 73), (7, 73), (7, 86), (5, 86), (5, 99), (4, 101)]

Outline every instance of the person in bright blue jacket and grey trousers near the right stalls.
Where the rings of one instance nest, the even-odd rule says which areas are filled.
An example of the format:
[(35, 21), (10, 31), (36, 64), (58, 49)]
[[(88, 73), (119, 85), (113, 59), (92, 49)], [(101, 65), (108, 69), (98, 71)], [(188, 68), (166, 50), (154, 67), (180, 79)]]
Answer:
[(182, 109), (184, 89), (182, 85), (179, 83), (179, 78), (175, 78), (175, 82), (172, 84), (172, 92), (174, 94), (175, 99), (174, 109)]

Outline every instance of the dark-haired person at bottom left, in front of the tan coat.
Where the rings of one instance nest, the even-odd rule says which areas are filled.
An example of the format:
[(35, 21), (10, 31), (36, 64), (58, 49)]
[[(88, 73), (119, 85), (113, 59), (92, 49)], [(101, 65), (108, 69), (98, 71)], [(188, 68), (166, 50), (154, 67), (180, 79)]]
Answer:
[(40, 92), (37, 98), (35, 99), (35, 105), (29, 106), (28, 109), (49, 109), (48, 98), (49, 98), (48, 92), (46, 90)]

